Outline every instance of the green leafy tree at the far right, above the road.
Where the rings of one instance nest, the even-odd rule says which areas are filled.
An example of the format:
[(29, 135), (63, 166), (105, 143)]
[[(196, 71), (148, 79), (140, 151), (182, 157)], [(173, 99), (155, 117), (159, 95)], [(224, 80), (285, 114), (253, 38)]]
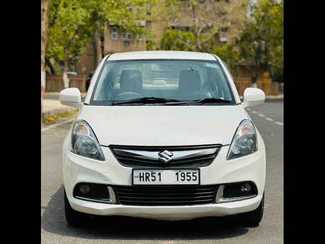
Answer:
[(283, 2), (282, 0), (259, 0), (250, 5), (250, 17), (238, 40), (244, 59), (256, 82), (262, 66), (270, 71), (270, 63), (278, 68), (282, 63)]

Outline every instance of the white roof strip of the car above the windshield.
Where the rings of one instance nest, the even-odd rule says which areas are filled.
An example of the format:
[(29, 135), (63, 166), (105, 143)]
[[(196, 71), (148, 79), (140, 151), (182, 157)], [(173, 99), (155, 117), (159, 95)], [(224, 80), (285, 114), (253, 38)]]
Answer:
[(189, 51), (135, 51), (113, 53), (107, 60), (129, 60), (129, 59), (202, 59), (216, 60), (206, 52)]

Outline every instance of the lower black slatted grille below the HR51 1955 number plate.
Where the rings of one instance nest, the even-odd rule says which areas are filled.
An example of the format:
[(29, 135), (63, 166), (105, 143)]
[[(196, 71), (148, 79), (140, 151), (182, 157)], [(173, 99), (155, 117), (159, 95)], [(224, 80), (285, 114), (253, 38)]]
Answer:
[(213, 203), (217, 185), (115, 186), (119, 203), (138, 206), (177, 206)]

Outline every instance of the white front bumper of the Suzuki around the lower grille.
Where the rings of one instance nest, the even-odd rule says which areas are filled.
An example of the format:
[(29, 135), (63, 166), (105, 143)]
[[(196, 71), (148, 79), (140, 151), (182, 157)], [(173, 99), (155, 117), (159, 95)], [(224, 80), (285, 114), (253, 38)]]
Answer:
[(119, 215), (160, 220), (184, 220), (209, 216), (226, 216), (247, 212), (258, 207), (262, 200), (266, 178), (265, 149), (256, 153), (226, 161), (229, 146), (222, 146), (214, 162), (201, 167), (201, 185), (221, 185), (232, 182), (252, 181), (257, 196), (251, 199), (190, 206), (129, 206), (89, 202), (73, 197), (73, 189), (79, 182), (107, 185), (132, 185), (132, 169), (121, 166), (108, 147), (102, 147), (106, 161), (97, 161), (63, 150), (63, 181), (69, 202), (77, 211), (93, 215)]

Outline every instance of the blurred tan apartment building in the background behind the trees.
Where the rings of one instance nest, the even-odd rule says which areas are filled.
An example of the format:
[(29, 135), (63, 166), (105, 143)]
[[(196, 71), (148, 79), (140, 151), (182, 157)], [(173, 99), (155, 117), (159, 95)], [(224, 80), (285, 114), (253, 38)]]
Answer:
[[(153, 43), (151, 50), (159, 50), (161, 37), (168, 28), (188, 31), (190, 28), (201, 28), (209, 24), (218, 24), (219, 31), (214, 38), (220, 42), (220, 45), (234, 44), (235, 38), (240, 34), (239, 26), (246, 18), (247, 0), (198, 0), (197, 2), (195, 6), (189, 0), (181, 0), (178, 5), (168, 5), (168, 0), (159, 0), (152, 7), (147, 4), (146, 8), (150, 11), (144, 20), (139, 21), (141, 26), (150, 31), (147, 35), (123, 32), (114, 23), (105, 25), (102, 37), (103, 55), (147, 50), (148, 41)], [(234, 17), (223, 16), (222, 9), (225, 13), (226, 10), (231, 12), (231, 16)], [(76, 70), (78, 75), (87, 75), (95, 68), (91, 44), (81, 55), (80, 60)]]

